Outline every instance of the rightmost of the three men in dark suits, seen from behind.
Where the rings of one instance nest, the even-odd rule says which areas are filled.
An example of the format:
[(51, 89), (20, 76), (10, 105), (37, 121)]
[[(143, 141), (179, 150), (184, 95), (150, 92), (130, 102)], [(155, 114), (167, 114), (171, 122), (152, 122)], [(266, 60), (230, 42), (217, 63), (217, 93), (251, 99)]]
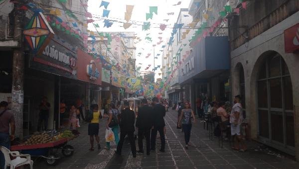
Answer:
[(152, 116), (153, 116), (153, 127), (151, 129), (151, 135), (150, 135), (150, 149), (152, 151), (155, 150), (155, 140), (157, 136), (157, 131), (159, 131), (160, 139), (161, 139), (161, 149), (160, 152), (165, 152), (165, 122), (164, 122), (164, 116), (165, 116), (165, 107), (159, 103), (159, 100), (157, 97), (152, 98), (152, 102), (154, 104), (153, 110), (152, 110)]

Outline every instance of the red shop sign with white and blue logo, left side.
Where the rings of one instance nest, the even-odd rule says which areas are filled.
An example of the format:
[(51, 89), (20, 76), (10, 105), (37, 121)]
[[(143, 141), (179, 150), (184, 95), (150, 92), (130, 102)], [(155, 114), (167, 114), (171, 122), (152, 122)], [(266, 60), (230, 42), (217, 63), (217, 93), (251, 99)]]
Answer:
[(93, 84), (102, 84), (102, 65), (94, 59), (92, 56), (84, 52), (82, 49), (77, 50), (78, 55), (78, 68), (77, 77), (78, 80)]

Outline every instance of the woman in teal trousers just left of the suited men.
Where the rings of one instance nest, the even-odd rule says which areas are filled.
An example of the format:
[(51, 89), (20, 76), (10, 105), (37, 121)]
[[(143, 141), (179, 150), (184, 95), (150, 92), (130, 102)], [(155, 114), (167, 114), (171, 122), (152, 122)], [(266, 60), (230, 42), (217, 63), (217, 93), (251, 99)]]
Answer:
[[(115, 143), (116, 143), (116, 145), (118, 145), (118, 142), (120, 141), (118, 133), (120, 130), (119, 121), (120, 121), (121, 113), (118, 111), (118, 109), (116, 109), (114, 103), (110, 103), (108, 114), (109, 114), (109, 118), (108, 118), (106, 128), (107, 129), (111, 128), (111, 130), (113, 131), (113, 134), (114, 134)], [(107, 150), (110, 149), (110, 142), (106, 142), (105, 149), (107, 149)]]

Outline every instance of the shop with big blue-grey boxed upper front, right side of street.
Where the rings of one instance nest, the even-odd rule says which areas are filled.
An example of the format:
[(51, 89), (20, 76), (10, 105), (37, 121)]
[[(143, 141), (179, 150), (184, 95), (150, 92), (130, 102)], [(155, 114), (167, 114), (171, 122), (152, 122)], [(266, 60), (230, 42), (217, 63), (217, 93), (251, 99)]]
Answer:
[(198, 42), (182, 63), (179, 78), (182, 100), (190, 101), (194, 109), (196, 100), (202, 95), (208, 102), (228, 100), (229, 91), (225, 85), (229, 80), (229, 68), (227, 36), (209, 36)]

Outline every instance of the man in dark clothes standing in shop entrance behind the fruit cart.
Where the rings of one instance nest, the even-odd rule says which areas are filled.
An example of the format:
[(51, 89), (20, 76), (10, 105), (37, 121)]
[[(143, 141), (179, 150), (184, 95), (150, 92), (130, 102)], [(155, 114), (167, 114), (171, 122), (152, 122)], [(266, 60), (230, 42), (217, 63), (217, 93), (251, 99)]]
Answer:
[[(39, 104), (39, 118), (37, 124), (37, 129), (39, 131), (48, 129), (48, 118), (49, 118), (50, 107), (51, 105), (50, 103), (47, 102), (47, 97), (43, 96), (41, 103)], [(42, 122), (44, 122), (43, 127), (41, 127)]]

